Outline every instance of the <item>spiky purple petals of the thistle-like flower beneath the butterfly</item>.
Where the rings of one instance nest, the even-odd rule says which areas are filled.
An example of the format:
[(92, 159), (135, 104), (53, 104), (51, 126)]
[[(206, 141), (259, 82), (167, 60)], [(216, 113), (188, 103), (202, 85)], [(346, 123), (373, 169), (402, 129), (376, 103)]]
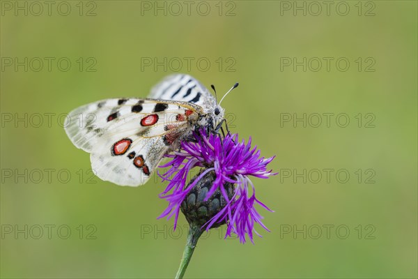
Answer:
[[(167, 155), (172, 160), (161, 166), (170, 167), (166, 174), (160, 174), (163, 181), (169, 181), (167, 188), (160, 194), (160, 197), (167, 199), (169, 206), (159, 218), (175, 216), (176, 227), (180, 207), (186, 197), (196, 185), (199, 186), (202, 179), (209, 179), (211, 186), (203, 202), (208, 202), (210, 197), (220, 193), (224, 204), (210, 216), (203, 227), (208, 230), (226, 223), (226, 236), (237, 234), (240, 242), (245, 243), (247, 234), (253, 242), (253, 232), (260, 236), (254, 229), (254, 223), (268, 230), (254, 205), (259, 204), (271, 210), (256, 199), (256, 190), (249, 176), (267, 179), (274, 175), (271, 170), (267, 170), (268, 163), (274, 157), (260, 158), (257, 147), (251, 149), (251, 137), (245, 144), (244, 140), (238, 142), (237, 134), (226, 137), (207, 135), (203, 129), (193, 133), (193, 137), (194, 141), (181, 142), (180, 151)], [(194, 167), (201, 168), (201, 172), (187, 185), (187, 176)], [(234, 185), (232, 193), (231, 185)]]

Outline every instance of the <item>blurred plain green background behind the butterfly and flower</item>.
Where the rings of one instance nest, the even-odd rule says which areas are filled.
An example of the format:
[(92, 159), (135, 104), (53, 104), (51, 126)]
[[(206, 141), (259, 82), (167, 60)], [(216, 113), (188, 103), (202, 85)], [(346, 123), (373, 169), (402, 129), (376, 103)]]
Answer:
[(177, 72), (219, 94), (240, 82), (222, 104), (231, 130), (280, 172), (252, 180), (272, 232), (212, 231), (188, 278), (417, 278), (416, 1), (52, 2), (1, 1), (2, 278), (173, 277), (187, 223), (156, 219), (164, 185), (92, 177), (61, 123)]

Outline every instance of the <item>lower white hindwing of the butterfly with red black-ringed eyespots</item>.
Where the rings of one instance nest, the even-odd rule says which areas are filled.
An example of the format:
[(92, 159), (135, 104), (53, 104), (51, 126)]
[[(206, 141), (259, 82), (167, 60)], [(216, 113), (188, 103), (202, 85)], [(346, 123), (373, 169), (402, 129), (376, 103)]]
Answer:
[(157, 125), (143, 133), (112, 133), (100, 140), (91, 151), (91, 165), (95, 174), (118, 185), (144, 184), (162, 156), (187, 129), (185, 123), (165, 125), (175, 126), (171, 130)]

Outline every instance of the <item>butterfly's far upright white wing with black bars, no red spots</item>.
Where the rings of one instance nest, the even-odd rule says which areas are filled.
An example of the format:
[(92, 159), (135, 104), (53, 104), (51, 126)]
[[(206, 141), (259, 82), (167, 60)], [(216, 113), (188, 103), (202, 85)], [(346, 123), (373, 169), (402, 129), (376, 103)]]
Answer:
[(215, 98), (205, 86), (190, 75), (169, 75), (151, 89), (148, 98), (178, 100), (194, 103), (203, 111), (212, 112), (217, 106)]

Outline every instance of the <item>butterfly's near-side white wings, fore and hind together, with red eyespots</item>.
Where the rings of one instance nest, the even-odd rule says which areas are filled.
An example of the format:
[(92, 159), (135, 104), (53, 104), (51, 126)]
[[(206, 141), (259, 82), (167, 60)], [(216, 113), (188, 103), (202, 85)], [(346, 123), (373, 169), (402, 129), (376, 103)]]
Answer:
[(181, 102), (109, 99), (70, 112), (65, 132), (75, 146), (91, 153), (100, 179), (139, 186), (200, 113), (201, 107)]

